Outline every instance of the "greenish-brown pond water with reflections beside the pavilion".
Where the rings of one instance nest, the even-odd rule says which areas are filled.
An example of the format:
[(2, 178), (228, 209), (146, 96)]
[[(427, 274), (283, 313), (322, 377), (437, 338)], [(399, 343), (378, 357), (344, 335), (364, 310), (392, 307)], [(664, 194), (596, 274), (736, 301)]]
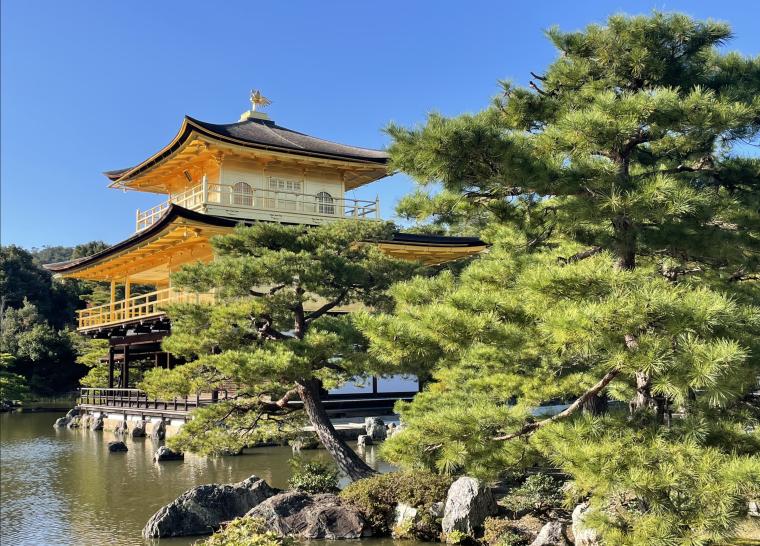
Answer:
[[(127, 453), (109, 454), (112, 433), (53, 429), (62, 415), (0, 414), (0, 544), (192, 544), (197, 538), (146, 541), (140, 532), (156, 510), (195, 485), (237, 482), (256, 474), (275, 487), (287, 486), (288, 447), (256, 448), (237, 457), (188, 455), (159, 465), (152, 457), (160, 444), (126, 439)], [(324, 450), (304, 451), (303, 456), (328, 459)], [(371, 447), (364, 457), (380, 471), (389, 469)], [(361, 544), (393, 542), (369, 539)]]

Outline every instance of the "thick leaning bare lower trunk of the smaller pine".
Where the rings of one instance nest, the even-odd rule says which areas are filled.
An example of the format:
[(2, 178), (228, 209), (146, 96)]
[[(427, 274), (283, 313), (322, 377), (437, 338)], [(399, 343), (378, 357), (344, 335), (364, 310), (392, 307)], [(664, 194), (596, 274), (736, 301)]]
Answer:
[(375, 474), (375, 471), (348, 447), (335, 432), (319, 396), (319, 382), (316, 379), (298, 383), (298, 394), (303, 401), (306, 415), (327, 452), (335, 460), (341, 472), (352, 480), (360, 480)]

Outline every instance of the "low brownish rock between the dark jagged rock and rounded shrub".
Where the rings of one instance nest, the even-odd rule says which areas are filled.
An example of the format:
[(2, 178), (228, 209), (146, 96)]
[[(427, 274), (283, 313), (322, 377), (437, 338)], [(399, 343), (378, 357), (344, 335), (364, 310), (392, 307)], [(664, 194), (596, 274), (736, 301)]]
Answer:
[(247, 515), (262, 519), (267, 529), (281, 536), (336, 540), (372, 535), (361, 513), (330, 493), (286, 491), (265, 500)]

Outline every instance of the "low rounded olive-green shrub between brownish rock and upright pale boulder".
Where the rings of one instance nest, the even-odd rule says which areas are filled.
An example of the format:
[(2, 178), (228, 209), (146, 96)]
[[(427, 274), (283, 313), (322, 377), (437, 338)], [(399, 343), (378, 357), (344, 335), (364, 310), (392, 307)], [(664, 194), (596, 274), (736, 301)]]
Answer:
[(391, 472), (356, 481), (340, 496), (356, 506), (380, 534), (390, 532), (396, 504), (413, 506), (419, 510), (420, 521), (412, 534), (420, 536), (435, 523), (430, 509), (434, 503), (446, 500), (450, 485), (450, 478), (429, 472)]

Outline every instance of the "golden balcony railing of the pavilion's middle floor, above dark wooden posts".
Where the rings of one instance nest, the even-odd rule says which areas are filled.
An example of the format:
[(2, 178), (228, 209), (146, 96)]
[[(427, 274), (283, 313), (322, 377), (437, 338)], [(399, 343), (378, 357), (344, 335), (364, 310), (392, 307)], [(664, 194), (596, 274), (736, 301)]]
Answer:
[(93, 327), (118, 324), (136, 319), (162, 315), (166, 306), (172, 303), (206, 303), (214, 302), (214, 294), (196, 294), (180, 292), (173, 288), (163, 288), (128, 299), (88, 307), (77, 311), (80, 330)]

